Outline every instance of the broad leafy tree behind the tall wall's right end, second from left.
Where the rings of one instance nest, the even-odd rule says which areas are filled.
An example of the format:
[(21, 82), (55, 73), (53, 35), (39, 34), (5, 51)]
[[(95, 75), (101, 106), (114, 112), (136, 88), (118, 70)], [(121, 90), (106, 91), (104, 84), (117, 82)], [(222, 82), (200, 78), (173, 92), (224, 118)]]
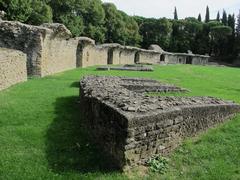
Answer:
[(51, 0), (49, 4), (53, 20), (64, 23), (74, 36), (89, 36), (99, 43), (104, 42), (105, 12), (101, 0)]

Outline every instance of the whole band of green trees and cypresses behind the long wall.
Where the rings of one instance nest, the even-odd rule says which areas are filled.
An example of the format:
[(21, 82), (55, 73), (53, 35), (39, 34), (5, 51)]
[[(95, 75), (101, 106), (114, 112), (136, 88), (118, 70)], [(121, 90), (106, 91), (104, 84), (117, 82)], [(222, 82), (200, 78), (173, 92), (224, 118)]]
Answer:
[(40, 25), (47, 22), (65, 24), (74, 36), (88, 36), (97, 43), (148, 48), (158, 44), (173, 52), (192, 50), (197, 54), (236, 55), (240, 51), (240, 12), (210, 19), (206, 7), (201, 14), (179, 19), (177, 7), (173, 19), (129, 16), (112, 3), (101, 0), (0, 0), (6, 19)]

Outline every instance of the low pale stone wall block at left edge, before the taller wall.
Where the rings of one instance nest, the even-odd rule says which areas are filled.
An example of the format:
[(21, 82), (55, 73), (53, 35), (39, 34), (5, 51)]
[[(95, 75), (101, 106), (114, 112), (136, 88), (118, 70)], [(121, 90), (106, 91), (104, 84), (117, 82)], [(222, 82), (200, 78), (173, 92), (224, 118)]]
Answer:
[(0, 48), (0, 90), (27, 81), (26, 54)]

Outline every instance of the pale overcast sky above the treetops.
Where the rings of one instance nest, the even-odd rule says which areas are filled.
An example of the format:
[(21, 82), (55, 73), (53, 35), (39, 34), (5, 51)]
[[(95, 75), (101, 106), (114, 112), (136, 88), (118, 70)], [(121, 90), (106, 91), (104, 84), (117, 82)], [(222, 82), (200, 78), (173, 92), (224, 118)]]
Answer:
[(223, 9), (227, 13), (237, 15), (240, 9), (240, 0), (103, 0), (112, 2), (118, 9), (129, 15), (144, 17), (173, 18), (174, 7), (177, 7), (178, 17), (197, 17), (199, 13), (202, 19), (205, 17), (206, 6), (210, 8), (211, 18), (216, 18), (218, 11)]

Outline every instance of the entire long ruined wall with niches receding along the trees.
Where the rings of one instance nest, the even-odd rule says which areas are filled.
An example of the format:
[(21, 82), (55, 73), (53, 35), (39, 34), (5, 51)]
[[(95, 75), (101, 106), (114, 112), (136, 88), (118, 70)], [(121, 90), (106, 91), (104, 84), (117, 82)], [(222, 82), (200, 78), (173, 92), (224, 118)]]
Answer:
[(31, 76), (47, 76), (76, 67), (107, 64), (207, 64), (208, 56), (169, 53), (158, 45), (149, 50), (119, 44), (96, 45), (86, 37), (72, 38), (62, 24), (26, 25), (0, 21), (0, 47), (27, 54), (27, 70)]

